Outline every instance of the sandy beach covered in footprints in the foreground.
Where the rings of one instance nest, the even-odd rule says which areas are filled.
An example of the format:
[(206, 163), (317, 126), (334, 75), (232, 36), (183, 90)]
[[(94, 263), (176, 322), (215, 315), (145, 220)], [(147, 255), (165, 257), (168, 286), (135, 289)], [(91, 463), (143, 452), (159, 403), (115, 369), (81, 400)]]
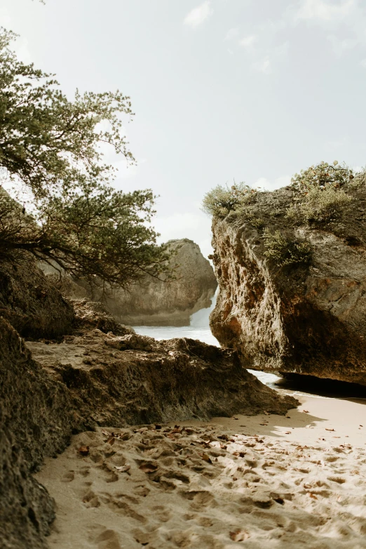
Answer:
[(366, 547), (365, 401), (83, 432), (36, 475), (54, 549)]

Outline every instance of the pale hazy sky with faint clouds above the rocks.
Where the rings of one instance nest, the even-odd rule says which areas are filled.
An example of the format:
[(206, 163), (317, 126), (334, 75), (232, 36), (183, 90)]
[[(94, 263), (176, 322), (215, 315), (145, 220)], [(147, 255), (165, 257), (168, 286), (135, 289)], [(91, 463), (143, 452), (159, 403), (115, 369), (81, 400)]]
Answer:
[(0, 25), (69, 98), (130, 95), (137, 166), (120, 158), (115, 185), (159, 195), (161, 242), (210, 253), (217, 185), (366, 164), (366, 0), (1, 0)]

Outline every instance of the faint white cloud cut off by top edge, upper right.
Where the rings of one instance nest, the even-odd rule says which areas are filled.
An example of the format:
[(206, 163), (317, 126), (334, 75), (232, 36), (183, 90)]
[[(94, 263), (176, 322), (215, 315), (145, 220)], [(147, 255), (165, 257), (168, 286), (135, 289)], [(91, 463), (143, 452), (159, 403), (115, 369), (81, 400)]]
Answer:
[(341, 3), (325, 0), (302, 0), (295, 13), (295, 20), (331, 21), (346, 17), (355, 8), (355, 0), (343, 0)]

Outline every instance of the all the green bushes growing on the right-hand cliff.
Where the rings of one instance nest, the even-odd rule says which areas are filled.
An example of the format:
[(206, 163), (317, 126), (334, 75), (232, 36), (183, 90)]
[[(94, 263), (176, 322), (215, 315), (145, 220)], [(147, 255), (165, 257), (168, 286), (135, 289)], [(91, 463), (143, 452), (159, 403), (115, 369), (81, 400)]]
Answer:
[[(264, 193), (240, 183), (231, 188), (219, 185), (208, 192), (203, 199), (203, 211), (229, 223), (238, 221), (255, 227), (263, 238), (264, 255), (278, 267), (307, 264), (311, 263), (311, 244), (306, 237), (295, 234), (295, 227), (320, 225), (339, 232), (349, 213), (353, 191), (365, 183), (366, 171), (354, 173), (338, 161), (320, 162), (294, 175), (283, 209), (278, 210), (276, 199), (266, 201), (270, 209), (263, 209), (260, 197)], [(275, 218), (282, 222), (273, 223)]]

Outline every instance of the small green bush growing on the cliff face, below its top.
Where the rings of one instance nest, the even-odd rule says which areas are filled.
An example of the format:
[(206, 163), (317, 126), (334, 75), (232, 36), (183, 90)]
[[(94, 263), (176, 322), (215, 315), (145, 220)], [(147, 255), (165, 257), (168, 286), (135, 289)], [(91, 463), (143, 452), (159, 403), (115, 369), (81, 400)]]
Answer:
[(264, 230), (264, 246), (266, 248), (264, 255), (273, 260), (277, 267), (311, 262), (309, 242), (290, 240), (278, 230), (274, 233), (268, 229)]

